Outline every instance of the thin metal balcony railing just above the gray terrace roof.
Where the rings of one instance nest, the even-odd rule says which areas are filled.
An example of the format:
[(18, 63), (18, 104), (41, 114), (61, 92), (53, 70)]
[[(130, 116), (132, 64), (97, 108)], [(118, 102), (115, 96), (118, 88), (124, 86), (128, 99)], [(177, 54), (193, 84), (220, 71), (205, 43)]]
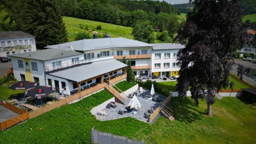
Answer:
[(55, 66), (45, 66), (45, 72), (57, 72), (59, 70), (65, 70), (68, 68), (72, 68), (75, 66), (81, 66), (84, 64), (91, 64), (92, 63), (92, 59), (86, 59), (86, 60), (79, 60), (78, 62), (65, 62), (65, 63), (61, 63)]

